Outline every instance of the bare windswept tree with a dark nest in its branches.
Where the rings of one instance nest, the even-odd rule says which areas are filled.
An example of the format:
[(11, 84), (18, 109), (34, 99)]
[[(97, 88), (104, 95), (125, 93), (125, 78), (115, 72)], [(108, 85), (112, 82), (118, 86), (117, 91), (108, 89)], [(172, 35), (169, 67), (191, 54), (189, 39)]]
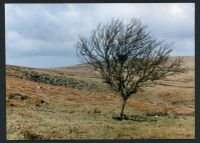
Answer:
[(119, 119), (124, 118), (128, 98), (140, 87), (184, 71), (180, 57), (170, 58), (170, 45), (154, 38), (146, 27), (137, 18), (128, 24), (112, 19), (99, 24), (88, 37), (80, 37), (76, 44), (79, 58), (92, 65), (120, 93)]

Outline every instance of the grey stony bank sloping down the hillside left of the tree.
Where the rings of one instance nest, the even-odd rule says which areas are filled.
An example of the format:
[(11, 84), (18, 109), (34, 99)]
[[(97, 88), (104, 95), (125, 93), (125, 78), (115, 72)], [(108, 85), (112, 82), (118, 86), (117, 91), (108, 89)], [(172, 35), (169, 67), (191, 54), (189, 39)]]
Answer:
[(63, 75), (39, 73), (31, 70), (30, 68), (17, 68), (15, 66), (7, 67), (7, 75), (15, 76), (35, 82), (42, 82), (51, 85), (64, 86), (68, 88), (76, 88), (79, 90), (92, 90), (92, 91), (102, 91), (102, 85), (98, 85), (95, 82), (86, 82), (83, 80), (78, 80), (75, 78), (70, 78)]

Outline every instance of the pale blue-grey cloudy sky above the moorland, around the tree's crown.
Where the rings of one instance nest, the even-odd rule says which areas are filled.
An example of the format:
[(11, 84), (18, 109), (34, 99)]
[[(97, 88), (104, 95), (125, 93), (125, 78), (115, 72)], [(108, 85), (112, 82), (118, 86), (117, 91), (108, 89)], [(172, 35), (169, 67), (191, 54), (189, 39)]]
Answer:
[(194, 4), (6, 4), (6, 64), (60, 67), (80, 63), (75, 47), (98, 23), (140, 18), (172, 55), (194, 56)]

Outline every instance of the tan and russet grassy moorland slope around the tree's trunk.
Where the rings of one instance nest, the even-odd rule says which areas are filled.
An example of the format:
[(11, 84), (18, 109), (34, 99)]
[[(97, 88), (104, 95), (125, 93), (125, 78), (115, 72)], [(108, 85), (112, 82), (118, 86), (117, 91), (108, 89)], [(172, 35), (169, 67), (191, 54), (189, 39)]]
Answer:
[[(7, 76), (7, 139), (194, 138), (194, 59), (185, 61), (188, 73), (159, 81), (164, 85), (145, 87), (128, 100), (125, 113), (135, 120), (111, 118), (120, 109), (116, 93)], [(35, 70), (95, 80), (84, 66)], [(29, 98), (9, 99), (11, 93)]]

